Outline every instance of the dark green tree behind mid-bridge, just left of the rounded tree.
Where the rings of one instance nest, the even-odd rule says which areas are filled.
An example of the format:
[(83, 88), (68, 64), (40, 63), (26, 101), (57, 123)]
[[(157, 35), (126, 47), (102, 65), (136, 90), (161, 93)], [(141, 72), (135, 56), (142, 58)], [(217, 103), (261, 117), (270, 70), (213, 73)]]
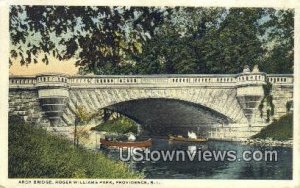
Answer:
[(158, 28), (137, 59), (140, 74), (208, 73), (203, 62), (205, 35), (216, 27), (222, 8), (177, 7), (170, 19)]

